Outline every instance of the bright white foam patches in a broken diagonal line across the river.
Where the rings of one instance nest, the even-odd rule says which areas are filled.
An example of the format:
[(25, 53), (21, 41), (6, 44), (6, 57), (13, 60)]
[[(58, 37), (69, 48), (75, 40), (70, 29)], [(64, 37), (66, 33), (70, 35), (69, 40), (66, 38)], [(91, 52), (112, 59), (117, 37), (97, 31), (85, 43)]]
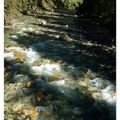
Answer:
[[(40, 43), (39, 43), (40, 44)], [(41, 59), (40, 55), (35, 51), (35, 46), (38, 44), (35, 44), (33, 48), (24, 49), (21, 47), (8, 47), (5, 48), (4, 58), (7, 60), (13, 60), (15, 59), (14, 51), (17, 51), (18, 54), (25, 53), (26, 59), (23, 61), (24, 63), (31, 66), (31, 70), (35, 74), (44, 75), (44, 76), (52, 76), (54, 73), (59, 73), (63, 76), (65, 76), (66, 73), (74, 74), (74, 72), (79, 73), (80, 71), (78, 69), (75, 69), (75, 67), (68, 66), (69, 69), (66, 69), (66, 71), (63, 71), (60, 64), (42, 64), (40, 66), (32, 66), (32, 64), (36, 61)], [(44, 47), (44, 44), (40, 44), (41, 47)], [(92, 75), (92, 71), (89, 70), (89, 74)], [(80, 77), (80, 76), (78, 76)], [(96, 87), (98, 91), (102, 95), (102, 99), (106, 101), (106, 103), (115, 106), (116, 104), (116, 92), (115, 92), (115, 86), (109, 83), (107, 80), (104, 80), (103, 78), (94, 78), (93, 80), (89, 80), (91, 85), (93, 87)], [(58, 80), (54, 81), (51, 84), (56, 86), (65, 86), (66, 81)]]

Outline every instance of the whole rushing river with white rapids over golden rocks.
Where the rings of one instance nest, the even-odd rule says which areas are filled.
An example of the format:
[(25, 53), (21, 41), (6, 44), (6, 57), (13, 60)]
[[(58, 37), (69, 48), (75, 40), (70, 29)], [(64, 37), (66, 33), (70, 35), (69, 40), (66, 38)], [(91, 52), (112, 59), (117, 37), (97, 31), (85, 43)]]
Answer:
[(87, 49), (101, 49), (101, 45), (85, 43), (73, 20), (69, 19), (70, 25), (61, 25), (67, 21), (53, 19), (56, 23), (42, 20), (40, 26), (31, 26), (32, 21), (27, 27), (20, 24), (19, 31), (9, 34), (10, 47), (5, 47), (4, 53), (5, 119), (115, 120), (115, 85), (107, 75), (90, 69), (99, 56)]

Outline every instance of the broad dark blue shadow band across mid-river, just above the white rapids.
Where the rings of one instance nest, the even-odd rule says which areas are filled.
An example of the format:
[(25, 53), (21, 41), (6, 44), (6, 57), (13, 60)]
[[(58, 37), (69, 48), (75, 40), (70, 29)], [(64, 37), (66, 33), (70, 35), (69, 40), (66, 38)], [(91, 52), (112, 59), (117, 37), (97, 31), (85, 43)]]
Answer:
[(105, 51), (102, 46), (84, 45), (79, 40), (69, 41), (64, 37), (56, 38), (54, 35), (50, 36), (47, 32), (44, 34), (25, 33), (27, 33), (27, 36), (19, 35), (19, 39), (14, 39), (14, 41), (27, 48), (29, 46), (35, 47), (43, 58), (54, 61), (62, 60), (68, 65), (90, 68), (93, 71), (103, 72), (110, 80), (115, 79), (114, 52)]

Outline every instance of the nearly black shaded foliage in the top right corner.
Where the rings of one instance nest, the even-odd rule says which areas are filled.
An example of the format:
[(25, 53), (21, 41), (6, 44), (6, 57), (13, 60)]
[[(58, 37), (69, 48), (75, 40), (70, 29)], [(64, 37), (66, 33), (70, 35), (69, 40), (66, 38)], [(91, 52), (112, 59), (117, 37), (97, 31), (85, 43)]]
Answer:
[(98, 19), (115, 30), (116, 0), (84, 0), (78, 12), (83, 17)]

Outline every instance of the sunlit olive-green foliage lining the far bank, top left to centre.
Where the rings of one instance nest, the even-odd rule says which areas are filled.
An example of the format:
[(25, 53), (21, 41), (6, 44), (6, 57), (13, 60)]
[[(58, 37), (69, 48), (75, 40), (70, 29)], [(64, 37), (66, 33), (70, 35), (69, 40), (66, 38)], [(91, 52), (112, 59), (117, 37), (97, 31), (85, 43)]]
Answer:
[(82, 2), (83, 0), (5, 0), (5, 24), (11, 23), (13, 18), (20, 13), (24, 15), (34, 13), (35, 6), (50, 11), (56, 8), (56, 6), (75, 9)]

